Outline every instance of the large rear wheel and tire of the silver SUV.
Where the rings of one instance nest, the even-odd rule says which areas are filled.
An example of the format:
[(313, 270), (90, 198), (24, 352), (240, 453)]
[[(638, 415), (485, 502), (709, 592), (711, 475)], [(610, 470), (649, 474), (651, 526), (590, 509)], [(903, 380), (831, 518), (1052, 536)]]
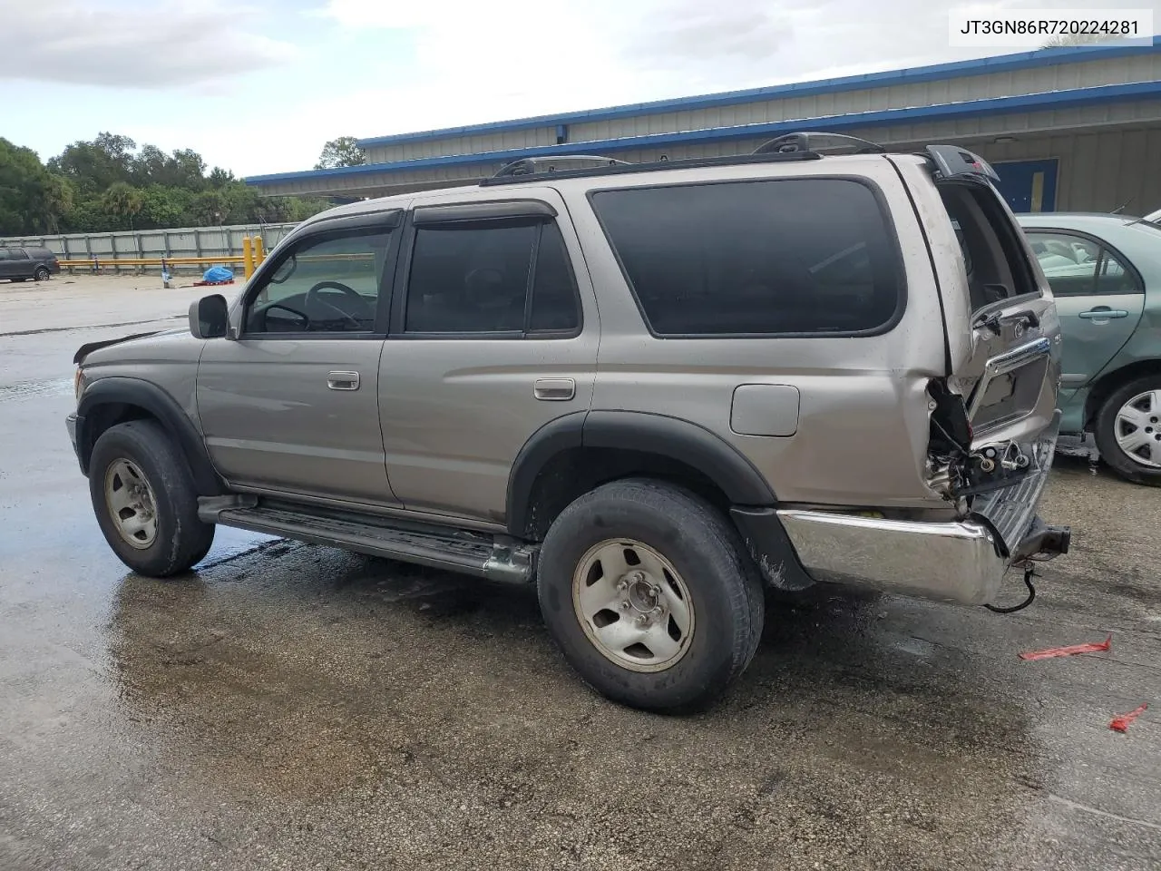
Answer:
[[(618, 589), (613, 578), (632, 583)], [(736, 530), (709, 503), (659, 481), (616, 481), (565, 508), (545, 538), (536, 585), (572, 668), (605, 697), (644, 711), (707, 707), (762, 639), (762, 583)], [(598, 610), (593, 602), (608, 595), (611, 607)], [(647, 613), (655, 603), (659, 614)]]

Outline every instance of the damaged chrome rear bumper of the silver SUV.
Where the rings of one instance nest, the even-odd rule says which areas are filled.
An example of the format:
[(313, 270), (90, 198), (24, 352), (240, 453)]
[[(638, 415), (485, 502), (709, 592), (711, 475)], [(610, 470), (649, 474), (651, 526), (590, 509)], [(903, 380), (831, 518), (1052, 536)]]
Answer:
[(1060, 415), (1030, 446), (1029, 474), (976, 497), (954, 523), (890, 520), (829, 511), (777, 512), (806, 573), (815, 581), (940, 602), (982, 605), (996, 598), (1014, 563), (1067, 553), (1068, 527), (1048, 526), (1036, 509), (1055, 453)]

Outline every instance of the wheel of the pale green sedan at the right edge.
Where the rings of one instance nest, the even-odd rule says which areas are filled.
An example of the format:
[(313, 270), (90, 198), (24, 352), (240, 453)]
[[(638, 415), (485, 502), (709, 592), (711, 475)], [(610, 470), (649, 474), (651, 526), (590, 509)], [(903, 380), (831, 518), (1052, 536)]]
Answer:
[[(1125, 419), (1119, 419), (1123, 416)], [(1134, 379), (1113, 390), (1097, 412), (1094, 434), (1097, 451), (1113, 472), (1137, 484), (1161, 487), (1161, 374)], [(1123, 446), (1134, 444), (1134, 434), (1141, 442), (1137, 455)]]

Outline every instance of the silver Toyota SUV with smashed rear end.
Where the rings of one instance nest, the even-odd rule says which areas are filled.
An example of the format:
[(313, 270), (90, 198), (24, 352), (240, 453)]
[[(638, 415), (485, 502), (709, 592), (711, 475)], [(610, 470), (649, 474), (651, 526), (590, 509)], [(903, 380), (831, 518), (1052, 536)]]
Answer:
[(656, 711), (745, 669), (764, 586), (990, 603), (1069, 538), (1055, 304), (994, 178), (799, 134), (332, 209), (188, 330), (78, 352), (101, 530), (154, 576), (224, 524), (534, 583)]

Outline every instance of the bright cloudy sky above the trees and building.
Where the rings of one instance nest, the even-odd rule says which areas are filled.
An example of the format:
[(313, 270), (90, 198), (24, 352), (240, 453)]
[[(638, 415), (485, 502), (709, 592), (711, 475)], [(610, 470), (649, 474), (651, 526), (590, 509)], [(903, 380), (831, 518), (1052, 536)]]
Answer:
[(1018, 49), (950, 48), (951, 9), (1161, 0), (0, 0), (0, 136), (101, 130), (239, 175), (337, 136), (589, 109)]

